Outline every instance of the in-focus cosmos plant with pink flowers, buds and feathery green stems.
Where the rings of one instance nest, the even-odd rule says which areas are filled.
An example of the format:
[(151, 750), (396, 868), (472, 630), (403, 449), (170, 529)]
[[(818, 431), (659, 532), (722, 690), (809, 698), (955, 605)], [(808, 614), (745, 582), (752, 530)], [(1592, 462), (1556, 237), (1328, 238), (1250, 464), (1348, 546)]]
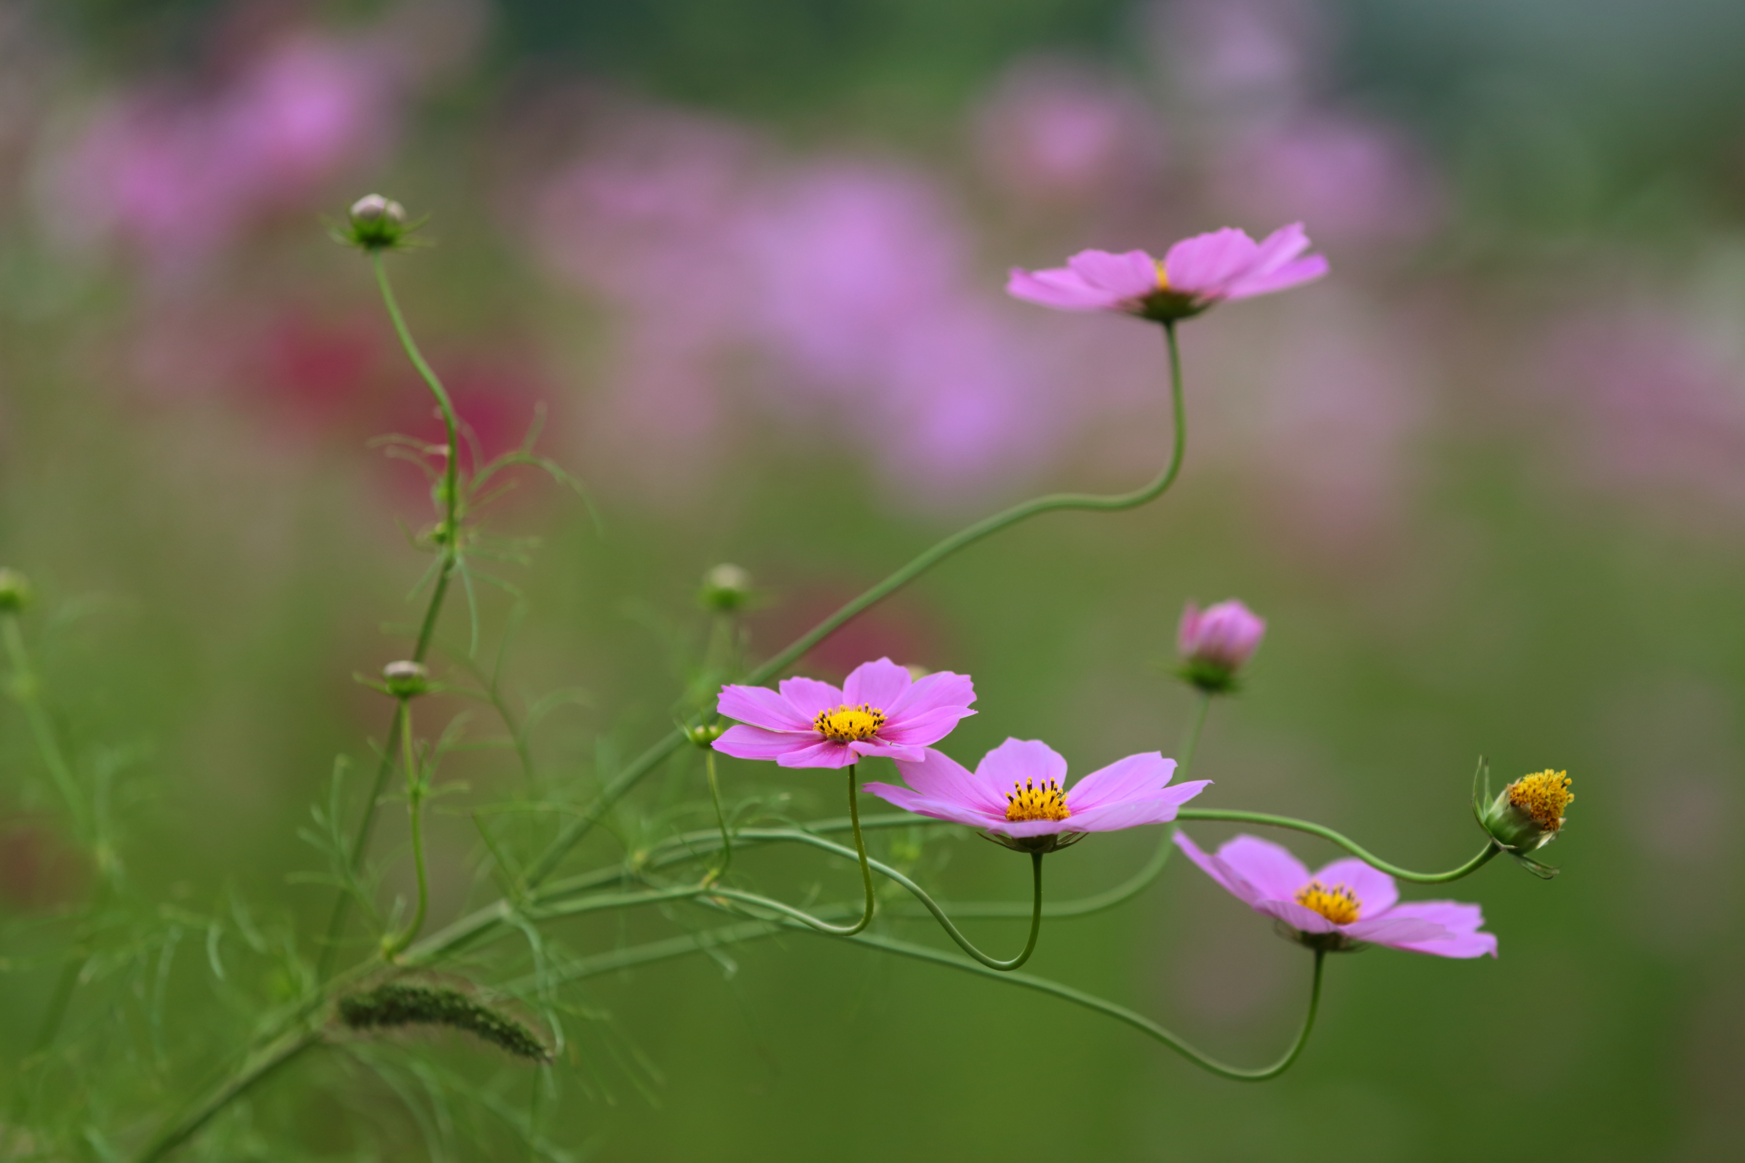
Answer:
[[(970, 675), (927, 673), (916, 666), (949, 659), (867, 659), (839, 685), (794, 673), (813, 647), (853, 617), (1005, 528), (1045, 513), (1131, 511), (1169, 492), (1187, 448), (1178, 326), (1222, 303), (1324, 275), (1326, 260), (1307, 253), (1310, 244), (1300, 223), (1260, 242), (1241, 230), (1202, 234), (1173, 244), (1160, 260), (1139, 249), (1084, 251), (1066, 267), (1014, 270), (1009, 284), (1014, 296), (1063, 310), (1119, 312), (1162, 330), (1173, 432), (1157, 476), (1133, 492), (1050, 493), (975, 521), (763, 659), (749, 657), (743, 617), (766, 598), (745, 570), (717, 565), (698, 595), (707, 645), (674, 703), (674, 725), (628, 758), (602, 758), (592, 776), (541, 771), (529, 734), (567, 694), (553, 692), (524, 708), (504, 696), (503, 652), (483, 650), (476, 600), (482, 586), (517, 593), (497, 575), (496, 563), (520, 560), (525, 546), (492, 535), (485, 523), (489, 502), (506, 476), (534, 471), (572, 486), (583, 502), (586, 495), (562, 467), (536, 452), (537, 432), (494, 460), (468, 453), (462, 417), (421, 354), (387, 277), (389, 256), (419, 241), (417, 225), (398, 202), (368, 195), (333, 227), (333, 235), (368, 262), (387, 323), (424, 380), (443, 436), (440, 443), (412, 436), (384, 441), (429, 483), (433, 514), (417, 535), (429, 568), (417, 591), (424, 609), (405, 650), (379, 675), (359, 678), (379, 692), (384, 708), (373, 762), (363, 779), (351, 778), (340, 762), (325, 802), (312, 811), (314, 826), (304, 832), (321, 853), (323, 867), (298, 879), (325, 894), (325, 924), (309, 931), (288, 922), (269, 935), (236, 896), (206, 915), (173, 901), (143, 901), (127, 914), (174, 915), (169, 929), (113, 922), (115, 901), (133, 901), (140, 891), (122, 872), (122, 820), (110, 807), (106, 776), (68, 753), (56, 729), (51, 692), (33, 659), (40, 642), (33, 619), (42, 598), (21, 572), (0, 568), (7, 689), (65, 806), (65, 830), (92, 870), (89, 907), (70, 917), (59, 949), (40, 959), (52, 985), (24, 1060), (24, 1081), (0, 1118), (0, 1153), (7, 1158), (77, 1154), (141, 1163), (171, 1156), (241, 1158), (237, 1144), (248, 1140), (251, 1102), (290, 1086), (326, 1086), (339, 1093), (354, 1085), (347, 1071), (380, 1074), (415, 1114), (419, 1093), (473, 1102), (513, 1130), (534, 1156), (564, 1158), (541, 1146), (539, 1097), (557, 1093), (565, 1071), (588, 1053), (590, 1043), (612, 1036), (606, 1027), (595, 1034), (593, 1025), (586, 1034), (567, 1032), (576, 1022), (604, 1022), (576, 1001), (581, 982), (665, 959), (719, 957), (724, 947), (784, 935), (811, 935), (869, 956), (958, 969), (989, 989), (1031, 990), (1089, 1017), (1122, 1022), (1216, 1076), (1260, 1081), (1284, 1072), (1305, 1051), (1331, 954), (1370, 945), (1468, 961), (1497, 954), (1497, 936), (1483, 929), (1478, 905), (1401, 901), (1401, 884), (1452, 882), (1497, 854), (1551, 875), (1553, 868), (1539, 863), (1537, 853), (1558, 835), (1572, 800), (1570, 779), (1562, 771), (1525, 774), (1495, 797), (1488, 786), (1482, 793), (1475, 788), (1480, 849), (1457, 868), (1433, 874), (1387, 863), (1319, 823), (1213, 806), (1220, 788), (1188, 778), (1201, 727), (1213, 703), (1242, 690), (1267, 629), (1237, 600), (1206, 609), (1190, 603), (1181, 614), (1176, 673), (1192, 692), (1194, 713), (1173, 755), (1159, 741), (1099, 767), (1099, 757), (1089, 757), (1084, 767), (1094, 769), (1077, 779), (1068, 774), (1068, 758), (1042, 739), (1007, 738), (979, 758), (967, 755), (955, 731), (972, 715), (988, 717), (977, 722), (989, 724), (995, 738), (1009, 731), (1031, 734), (1035, 727), (1009, 708), (981, 704)], [(457, 605), (457, 595), (468, 610), (459, 631), (454, 622), (461, 619), (443, 617)], [(501, 720), (499, 753), (511, 757), (525, 781), (525, 790), (506, 802), (471, 811), (480, 837), (473, 881), (496, 884), (499, 894), (464, 908), (441, 907), (431, 894), (438, 854), (426, 846), (426, 816), (435, 797), (455, 790), (441, 781), (441, 769), (466, 746), (468, 731), (464, 717), (440, 729), (433, 725), (435, 713), (428, 708), (448, 701), (438, 696), (489, 708)], [(696, 818), (703, 826), (677, 826), (682, 813), (670, 809), (639, 814), (632, 792), (656, 774), (668, 786), (691, 788), (693, 804), (707, 813)], [(759, 793), (759, 781), (771, 776), (841, 795), (846, 816), (796, 823)], [(1241, 778), (1232, 772), (1227, 781), (1239, 785)], [(866, 814), (864, 795), (899, 811)], [(405, 811), (407, 844), (400, 849), (384, 846), (375, 833), (379, 816), (389, 809)], [(1310, 872), (1284, 847), (1253, 835), (1208, 853), (1180, 830), (1185, 823), (1195, 830), (1206, 823), (1291, 830), (1344, 854)], [(948, 828), (967, 828), (1028, 856), (1028, 903), (948, 908), (918, 879), (925, 879), (927, 867), (914, 856), (923, 851), (916, 847), (921, 840), (906, 840), (900, 858), (895, 844), (879, 844), (885, 835), (925, 840)], [(1131, 828), (1150, 832), (1157, 842), (1139, 875), (1089, 898), (1045, 894), (1045, 865), (1073, 860), (1064, 849)], [(602, 844), (618, 844), (619, 851), (592, 865), (583, 860)], [(822, 901), (796, 903), (761, 891), (756, 886), (768, 877), (752, 875), (747, 865), (780, 847), (806, 849), (843, 874), (853, 870), (859, 893), (848, 900), (825, 894)], [(1019, 971), (1038, 947), (1047, 917), (1112, 908), (1138, 896), (1159, 881), (1178, 851), (1310, 954), (1305, 1017), (1272, 1064), (1228, 1065), (1127, 1006)], [(1010, 860), (995, 847), (977, 854)], [(407, 886), (405, 898), (384, 888), (384, 874)], [(468, 872), (441, 868), (441, 877), (455, 882)], [(567, 929), (558, 931), (560, 922), (574, 917), (630, 912), (647, 914), (649, 924), (670, 924), (674, 931), (658, 940), (606, 940), (593, 949), (576, 947)], [(110, 921), (98, 924), (99, 917)], [(965, 917), (1021, 917), (1028, 921), (1028, 938), (1017, 954), (996, 957), (961, 933), (958, 921)], [(906, 921), (937, 924), (948, 945), (899, 936), (897, 924)], [(166, 931), (173, 936), (166, 938)], [(105, 1025), (91, 1015), (103, 1013), (110, 1004), (105, 999), (120, 996), (106, 983), (119, 968), (145, 964), (155, 976), (141, 976), (145, 985), (127, 996), (157, 997), (161, 1004), (173, 976), (174, 942), (201, 931), (211, 978), (199, 983), (176, 978), (178, 989), (204, 990), (216, 1011), (234, 1010), (239, 1017), (218, 1022), (211, 1039), (188, 1034), (173, 1053), (159, 1041), (155, 1055), (126, 1058), (127, 1069), (145, 1079), (138, 1104), (126, 1111), (86, 1111), (77, 1083), (80, 1071), (101, 1057), (92, 1053), (91, 1039)], [(269, 982), (270, 989), (251, 996), (248, 982)], [(159, 1010), (150, 1003), (147, 1010), (155, 1022)], [(147, 1022), (145, 1029), (154, 1027)], [(405, 1030), (422, 1030), (422, 1037), (408, 1041)], [(511, 1109), (501, 1088), (443, 1074), (431, 1046), (457, 1039), (532, 1072), (532, 1107)], [(284, 1071), (291, 1062), (344, 1069)], [(337, 1111), (342, 1104), (321, 1109)], [(77, 1128), (72, 1137), (66, 1126)]]

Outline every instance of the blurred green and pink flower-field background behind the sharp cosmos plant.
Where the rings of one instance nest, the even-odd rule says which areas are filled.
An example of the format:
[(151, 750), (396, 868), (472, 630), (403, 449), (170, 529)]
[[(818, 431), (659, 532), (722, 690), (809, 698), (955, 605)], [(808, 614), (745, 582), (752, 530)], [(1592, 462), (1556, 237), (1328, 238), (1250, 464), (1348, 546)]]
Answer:
[[(968, 671), (981, 715), (953, 753), (1044, 738), (1082, 772), (1174, 750), (1174, 617), (1241, 596), (1269, 636), (1208, 725), (1206, 804), (1440, 868), (1480, 839), (1480, 755), (1576, 781), (1560, 879), (1497, 861), (1454, 893), (1501, 959), (1335, 961), (1277, 1083), (794, 936), (571, 990), (544, 1158), (1729, 1158), (1742, 45), (1726, 0), (0, 3), (0, 563), (40, 593), (26, 636), (108, 797), (134, 935), (21, 1079), (92, 874), (0, 708), (0, 1062), (59, 1126), (0, 1151), (126, 1158), (312, 957), (332, 896), (298, 881), (323, 867), (298, 828), (335, 755), (366, 767), (386, 727), (352, 675), (405, 652), (405, 532), (429, 521), (415, 471), (366, 441), (438, 432), (366, 263), (319, 221), (380, 188), (431, 216), (438, 244), (391, 270), (485, 453), (543, 406), (541, 448), (602, 518), (534, 479), (494, 509), (539, 539), (501, 567), (527, 600), (511, 701), (585, 697), (536, 734), (537, 788), (503, 752), (454, 757), (438, 921), (490, 891), (471, 807), (581, 802), (670, 724), (710, 565), (754, 574), (770, 654), (993, 506), (1150, 476), (1155, 328), (1007, 300), (1003, 272), (1222, 225), (1304, 220), (1333, 274), (1183, 326), (1174, 493), (977, 546), (808, 673)], [(482, 657), (513, 605), (482, 595)], [(441, 636), (459, 675), (464, 605)], [(473, 704), (429, 706), (492, 736)], [(747, 820), (841, 811), (834, 779), (722, 776)], [(574, 867), (708, 820), (688, 755)], [(1019, 858), (946, 832), (881, 846), (948, 898), (1023, 896)], [(401, 839), (384, 809), (379, 853)], [(1150, 842), (1050, 858), (1052, 891), (1113, 884)], [(790, 853), (745, 875), (855, 891)], [(405, 891), (405, 860), (384, 877)], [(585, 956), (708, 922), (553, 938)], [(1050, 924), (1033, 968), (1242, 1062), (1288, 1039), (1307, 985), (1300, 949), (1185, 865)], [(511, 1158), (407, 1064), (520, 1112), (530, 1071), (454, 1037), (368, 1053), (380, 1072), (298, 1062), (190, 1158)]]

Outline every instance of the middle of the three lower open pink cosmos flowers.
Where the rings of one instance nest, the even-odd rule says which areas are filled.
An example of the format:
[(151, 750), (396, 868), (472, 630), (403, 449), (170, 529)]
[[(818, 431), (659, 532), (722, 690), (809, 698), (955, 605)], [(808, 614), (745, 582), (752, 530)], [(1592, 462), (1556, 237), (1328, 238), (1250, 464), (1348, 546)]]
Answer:
[(1176, 760), (1143, 752), (1066, 788), (1066, 760), (1035, 739), (1007, 739), (974, 772), (932, 748), (918, 760), (899, 758), (897, 771), (907, 788), (869, 783), (862, 790), (920, 816), (984, 828), (1021, 853), (1052, 853), (1087, 832), (1169, 823), (1211, 783), (1167, 786)]

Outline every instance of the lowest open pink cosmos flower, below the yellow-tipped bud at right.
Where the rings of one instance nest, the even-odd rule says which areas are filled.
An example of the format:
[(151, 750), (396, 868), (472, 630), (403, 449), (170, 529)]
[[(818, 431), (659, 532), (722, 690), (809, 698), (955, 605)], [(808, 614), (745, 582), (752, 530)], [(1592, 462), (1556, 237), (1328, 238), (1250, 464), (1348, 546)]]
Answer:
[(1394, 879), (1361, 860), (1335, 860), (1310, 874), (1277, 844), (1239, 835), (1206, 854), (1176, 833), (1176, 846), (1255, 912), (1290, 926), (1295, 940), (1328, 952), (1389, 945), (1438, 957), (1497, 956), (1494, 933), (1478, 905), (1420, 900), (1405, 905)]

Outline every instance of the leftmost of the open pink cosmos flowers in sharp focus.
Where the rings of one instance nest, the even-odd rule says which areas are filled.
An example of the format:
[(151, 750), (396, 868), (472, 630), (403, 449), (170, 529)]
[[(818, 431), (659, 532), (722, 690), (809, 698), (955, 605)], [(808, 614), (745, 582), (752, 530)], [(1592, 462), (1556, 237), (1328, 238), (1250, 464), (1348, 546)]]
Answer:
[(846, 767), (866, 755), (921, 758), (958, 720), (974, 715), (968, 675), (939, 671), (921, 678), (890, 659), (864, 663), (838, 689), (817, 678), (784, 678), (766, 687), (722, 687), (715, 710), (738, 718), (715, 739), (736, 758), (773, 758), (784, 767)]

